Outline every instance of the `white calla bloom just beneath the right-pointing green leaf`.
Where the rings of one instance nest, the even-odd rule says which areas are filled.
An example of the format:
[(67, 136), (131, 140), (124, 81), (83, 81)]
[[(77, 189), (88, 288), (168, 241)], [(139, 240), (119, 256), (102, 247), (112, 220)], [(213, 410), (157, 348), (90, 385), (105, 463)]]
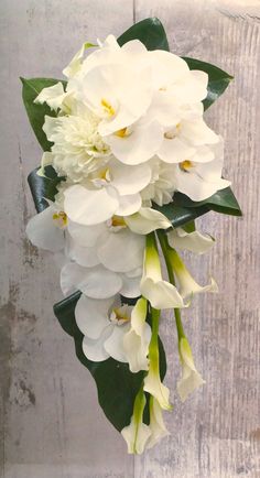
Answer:
[(197, 254), (207, 252), (215, 240), (209, 235), (202, 235), (198, 230), (186, 232), (182, 227), (172, 229), (167, 232), (169, 243), (172, 248), (185, 250)]

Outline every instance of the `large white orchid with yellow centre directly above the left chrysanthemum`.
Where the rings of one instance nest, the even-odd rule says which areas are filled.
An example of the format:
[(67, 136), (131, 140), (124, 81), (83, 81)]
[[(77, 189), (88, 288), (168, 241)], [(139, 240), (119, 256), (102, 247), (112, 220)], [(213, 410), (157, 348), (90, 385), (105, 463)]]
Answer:
[[(115, 63), (116, 62), (116, 63)], [(101, 135), (111, 134), (136, 122), (152, 99), (150, 69), (131, 68), (127, 62), (99, 64), (77, 78), (77, 98), (101, 119)], [(69, 90), (69, 88), (68, 88)]]

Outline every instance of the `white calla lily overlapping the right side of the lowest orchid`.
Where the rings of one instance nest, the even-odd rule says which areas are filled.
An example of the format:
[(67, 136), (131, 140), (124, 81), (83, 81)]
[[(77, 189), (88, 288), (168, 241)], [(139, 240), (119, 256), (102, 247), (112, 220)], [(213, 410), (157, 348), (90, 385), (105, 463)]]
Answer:
[(148, 370), (151, 328), (145, 322), (147, 307), (145, 298), (139, 298), (131, 313), (131, 328), (123, 337), (123, 350), (132, 373)]

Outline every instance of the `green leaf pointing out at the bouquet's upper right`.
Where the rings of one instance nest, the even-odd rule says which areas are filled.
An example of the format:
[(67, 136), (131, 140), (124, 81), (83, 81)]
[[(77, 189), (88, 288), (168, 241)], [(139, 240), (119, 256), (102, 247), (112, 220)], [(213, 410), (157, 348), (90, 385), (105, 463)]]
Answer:
[(185, 59), (189, 69), (201, 69), (208, 74), (208, 94), (207, 98), (203, 101), (204, 110), (206, 110), (225, 91), (234, 77), (210, 63), (201, 62), (201, 59), (188, 58), (186, 56), (183, 56), (183, 59)]

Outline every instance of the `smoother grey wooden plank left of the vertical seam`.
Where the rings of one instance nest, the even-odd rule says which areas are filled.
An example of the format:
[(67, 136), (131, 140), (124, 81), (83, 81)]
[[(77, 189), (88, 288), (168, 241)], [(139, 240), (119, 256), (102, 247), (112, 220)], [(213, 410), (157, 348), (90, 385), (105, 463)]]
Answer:
[(25, 178), (41, 151), (19, 76), (61, 77), (84, 41), (120, 34), (132, 23), (132, 0), (3, 0), (0, 9), (2, 476), (131, 477), (133, 460), (53, 316), (62, 294), (52, 257), (24, 235), (34, 214)]

